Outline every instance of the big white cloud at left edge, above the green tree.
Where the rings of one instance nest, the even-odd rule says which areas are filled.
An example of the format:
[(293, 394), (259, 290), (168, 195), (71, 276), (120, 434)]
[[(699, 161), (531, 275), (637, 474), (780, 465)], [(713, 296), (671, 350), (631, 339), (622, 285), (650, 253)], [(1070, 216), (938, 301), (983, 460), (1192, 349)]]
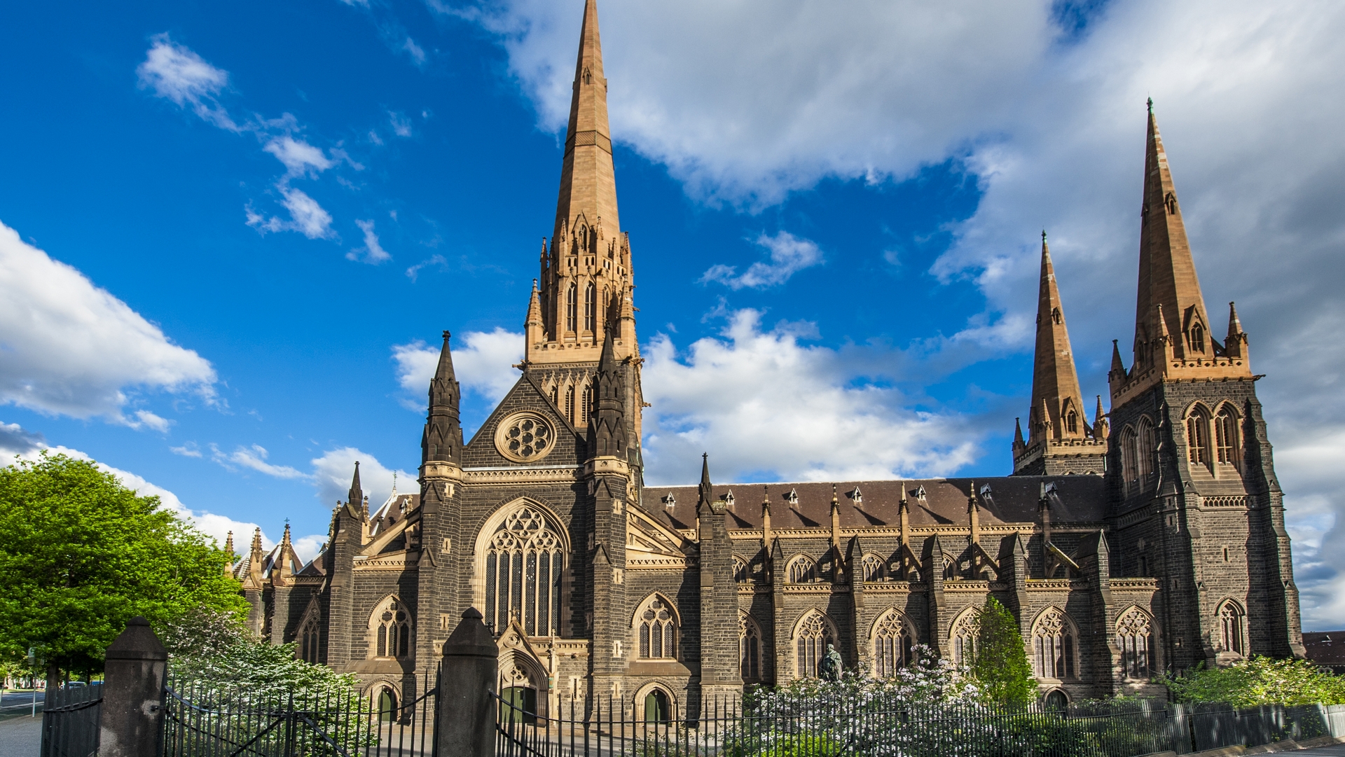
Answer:
[(217, 401), (208, 360), (3, 223), (0, 354), (0, 405), (163, 432), (141, 393)]

